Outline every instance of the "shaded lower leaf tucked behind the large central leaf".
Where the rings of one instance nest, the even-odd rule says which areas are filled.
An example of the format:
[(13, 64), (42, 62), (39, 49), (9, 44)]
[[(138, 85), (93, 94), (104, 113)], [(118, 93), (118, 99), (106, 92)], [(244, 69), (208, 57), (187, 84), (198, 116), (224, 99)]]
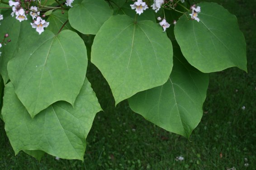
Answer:
[(164, 85), (135, 94), (128, 102), (134, 112), (148, 121), (190, 137), (202, 118), (208, 84), (208, 74), (196, 70), (179, 50), (175, 50), (169, 80)]

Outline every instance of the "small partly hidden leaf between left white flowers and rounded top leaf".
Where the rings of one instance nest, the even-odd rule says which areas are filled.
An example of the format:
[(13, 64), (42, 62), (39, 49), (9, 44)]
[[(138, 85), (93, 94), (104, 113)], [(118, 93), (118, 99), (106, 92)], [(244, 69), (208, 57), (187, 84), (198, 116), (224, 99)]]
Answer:
[(62, 31), (65, 29), (72, 30), (73, 28), (67, 21), (68, 21), (67, 12), (64, 12), (62, 14), (61, 10), (54, 11), (52, 12), (52, 14), (50, 14), (49, 18), (47, 19), (47, 22), (49, 22), (50, 24), (46, 29), (52, 31), (52, 33), (54, 34), (57, 34), (59, 30), (62, 28), (62, 26), (65, 24), (64, 27), (62, 28)]

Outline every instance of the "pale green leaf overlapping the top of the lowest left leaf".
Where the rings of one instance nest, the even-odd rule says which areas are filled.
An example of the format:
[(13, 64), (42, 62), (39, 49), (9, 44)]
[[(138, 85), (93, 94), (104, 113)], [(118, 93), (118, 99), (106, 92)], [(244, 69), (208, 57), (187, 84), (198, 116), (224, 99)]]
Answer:
[(8, 74), (28, 113), (34, 117), (59, 100), (73, 105), (87, 67), (83, 40), (70, 30), (57, 36), (46, 30), (27, 39), (9, 61)]

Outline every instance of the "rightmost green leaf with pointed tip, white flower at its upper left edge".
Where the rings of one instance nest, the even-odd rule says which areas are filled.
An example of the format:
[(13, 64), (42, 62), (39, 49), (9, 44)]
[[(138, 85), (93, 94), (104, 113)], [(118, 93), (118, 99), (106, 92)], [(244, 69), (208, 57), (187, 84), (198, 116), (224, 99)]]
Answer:
[(237, 18), (216, 3), (202, 2), (199, 22), (186, 13), (174, 28), (175, 38), (189, 63), (202, 72), (237, 66), (247, 71), (246, 42)]

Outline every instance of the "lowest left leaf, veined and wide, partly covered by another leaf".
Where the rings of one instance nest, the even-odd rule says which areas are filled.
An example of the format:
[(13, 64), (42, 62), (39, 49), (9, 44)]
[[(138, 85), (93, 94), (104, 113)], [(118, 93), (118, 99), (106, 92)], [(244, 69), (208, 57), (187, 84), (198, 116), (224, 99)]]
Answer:
[[(40, 158), (44, 151), (63, 159), (83, 160), (85, 138), (95, 114), (100, 110), (95, 93), (85, 79), (74, 107), (59, 101), (31, 118), (10, 82), (5, 87), (2, 114), (5, 131), (15, 154), (24, 150)], [(38, 150), (41, 152), (38, 153)]]

